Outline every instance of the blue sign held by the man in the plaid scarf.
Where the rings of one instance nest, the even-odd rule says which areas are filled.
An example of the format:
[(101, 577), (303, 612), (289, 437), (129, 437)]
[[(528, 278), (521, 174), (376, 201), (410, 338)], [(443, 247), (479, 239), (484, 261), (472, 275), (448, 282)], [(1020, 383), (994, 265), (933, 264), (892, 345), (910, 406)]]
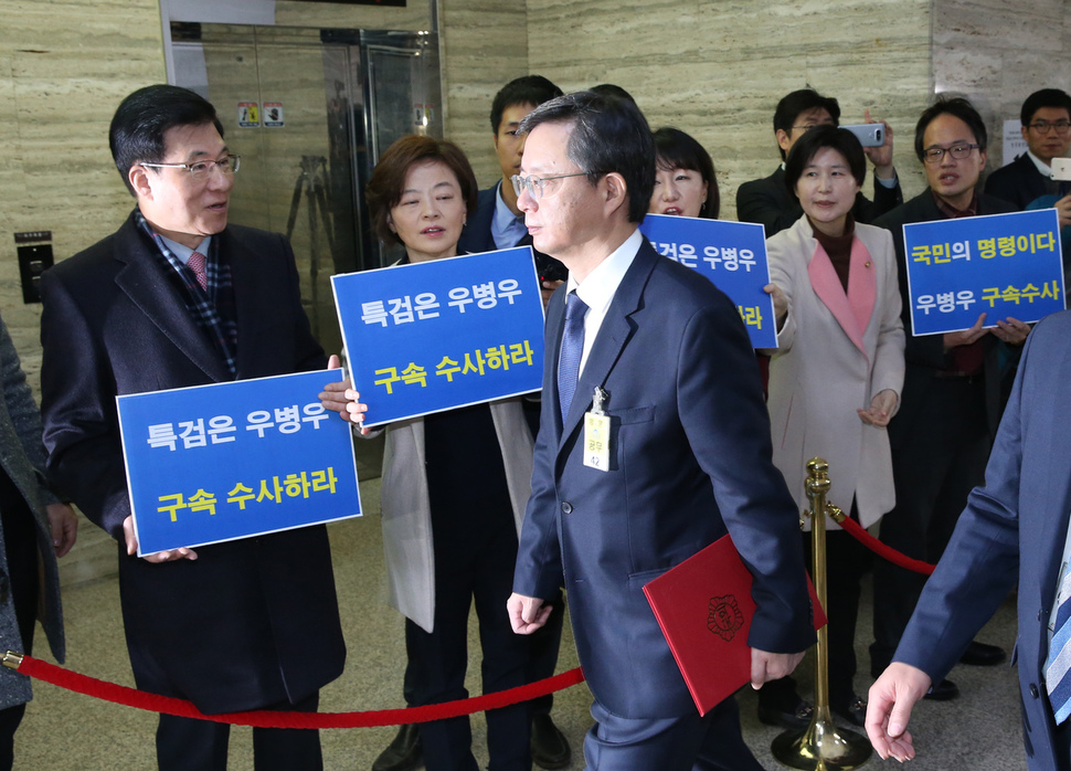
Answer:
[(342, 370), (116, 398), (138, 556), (361, 515)]

